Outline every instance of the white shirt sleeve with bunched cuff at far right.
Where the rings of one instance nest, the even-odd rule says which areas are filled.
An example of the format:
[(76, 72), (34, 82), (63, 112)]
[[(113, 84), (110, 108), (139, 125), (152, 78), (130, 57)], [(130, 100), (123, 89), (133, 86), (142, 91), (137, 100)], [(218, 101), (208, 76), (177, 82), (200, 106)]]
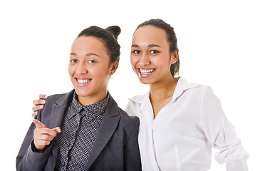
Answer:
[(248, 153), (237, 138), (233, 125), (227, 120), (220, 100), (209, 86), (202, 93), (201, 104), (204, 133), (212, 147), (219, 150), (215, 160), (220, 164), (226, 162), (227, 171), (247, 170)]

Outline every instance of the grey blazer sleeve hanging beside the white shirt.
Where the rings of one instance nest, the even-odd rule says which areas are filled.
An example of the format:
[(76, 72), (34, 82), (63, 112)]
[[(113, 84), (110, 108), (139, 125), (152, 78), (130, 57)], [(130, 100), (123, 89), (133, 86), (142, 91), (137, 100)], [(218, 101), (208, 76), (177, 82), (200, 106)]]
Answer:
[(140, 150), (138, 146), (138, 131), (140, 120), (131, 116), (134, 120), (133, 131), (124, 147), (124, 170), (141, 170)]

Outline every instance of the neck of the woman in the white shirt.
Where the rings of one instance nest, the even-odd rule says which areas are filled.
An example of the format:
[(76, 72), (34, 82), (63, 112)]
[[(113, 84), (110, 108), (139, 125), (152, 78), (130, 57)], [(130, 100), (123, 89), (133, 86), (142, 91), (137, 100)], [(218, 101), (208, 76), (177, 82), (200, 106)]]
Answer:
[(165, 81), (150, 84), (150, 100), (162, 100), (172, 98), (177, 86), (177, 78), (167, 78)]

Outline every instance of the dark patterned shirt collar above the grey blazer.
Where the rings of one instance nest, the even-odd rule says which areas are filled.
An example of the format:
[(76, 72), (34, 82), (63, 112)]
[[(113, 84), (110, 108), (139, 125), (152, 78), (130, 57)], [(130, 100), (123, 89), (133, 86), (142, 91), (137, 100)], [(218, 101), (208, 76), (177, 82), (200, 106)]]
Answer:
[[(70, 113), (68, 115), (68, 118), (71, 119), (74, 115), (77, 115), (78, 113), (81, 115), (85, 115), (86, 113), (89, 113), (90, 115), (100, 115), (105, 112), (105, 109), (108, 106), (108, 100), (110, 98), (110, 93), (108, 92), (108, 95), (101, 100), (98, 103), (94, 103), (91, 105), (85, 105), (83, 106), (79, 101), (78, 101), (78, 95), (76, 92), (73, 93), (73, 99), (71, 101), (70, 108), (72, 108), (73, 113)], [(82, 112), (82, 110), (86, 110), (86, 113)]]

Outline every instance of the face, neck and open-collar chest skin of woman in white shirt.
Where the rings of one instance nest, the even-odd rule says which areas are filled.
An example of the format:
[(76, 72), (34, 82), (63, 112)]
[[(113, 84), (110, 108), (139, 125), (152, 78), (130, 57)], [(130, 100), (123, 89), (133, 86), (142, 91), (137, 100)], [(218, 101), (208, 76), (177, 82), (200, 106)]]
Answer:
[(162, 28), (142, 26), (133, 34), (130, 62), (140, 82), (150, 86), (154, 118), (172, 99), (177, 80), (170, 73), (170, 65), (177, 59), (178, 51), (170, 52)]

